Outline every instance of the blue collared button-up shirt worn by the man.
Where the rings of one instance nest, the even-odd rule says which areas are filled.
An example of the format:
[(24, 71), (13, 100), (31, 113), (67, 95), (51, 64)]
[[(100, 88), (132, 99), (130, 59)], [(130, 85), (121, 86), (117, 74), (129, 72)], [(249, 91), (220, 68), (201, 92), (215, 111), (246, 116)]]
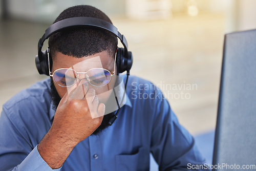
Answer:
[[(37, 151), (55, 114), (49, 91), (48, 78), (3, 105), (0, 170), (53, 170)], [(148, 170), (150, 153), (159, 170), (188, 170), (188, 164), (205, 162), (161, 91), (130, 76), (126, 103), (114, 124), (77, 144), (62, 167), (54, 170)]]

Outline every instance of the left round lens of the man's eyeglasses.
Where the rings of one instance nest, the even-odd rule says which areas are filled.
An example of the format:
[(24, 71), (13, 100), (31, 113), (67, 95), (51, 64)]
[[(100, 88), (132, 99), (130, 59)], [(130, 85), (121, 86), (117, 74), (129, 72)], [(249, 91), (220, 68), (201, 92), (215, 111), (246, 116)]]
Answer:
[(76, 71), (72, 69), (59, 69), (53, 73), (54, 81), (61, 87), (70, 87), (76, 82)]

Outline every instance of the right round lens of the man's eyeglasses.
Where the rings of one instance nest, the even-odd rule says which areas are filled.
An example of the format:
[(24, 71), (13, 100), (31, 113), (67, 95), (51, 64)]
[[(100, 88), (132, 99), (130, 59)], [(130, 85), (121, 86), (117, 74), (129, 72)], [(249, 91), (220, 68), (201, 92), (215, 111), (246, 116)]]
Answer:
[(87, 72), (87, 78), (93, 86), (105, 86), (110, 82), (111, 73), (103, 68), (94, 68)]

